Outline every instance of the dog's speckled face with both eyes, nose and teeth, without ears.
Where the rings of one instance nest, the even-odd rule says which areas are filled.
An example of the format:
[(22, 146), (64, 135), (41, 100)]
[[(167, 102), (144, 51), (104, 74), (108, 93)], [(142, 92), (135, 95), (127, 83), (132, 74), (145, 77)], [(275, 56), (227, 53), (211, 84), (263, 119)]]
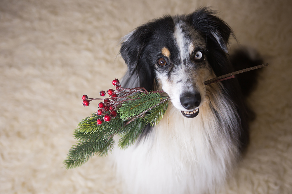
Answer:
[(199, 113), (204, 102), (206, 81), (211, 76), (211, 67), (206, 59), (204, 38), (192, 26), (179, 22), (174, 26), (171, 46), (160, 44), (152, 55), (155, 75), (173, 105), (188, 118)]

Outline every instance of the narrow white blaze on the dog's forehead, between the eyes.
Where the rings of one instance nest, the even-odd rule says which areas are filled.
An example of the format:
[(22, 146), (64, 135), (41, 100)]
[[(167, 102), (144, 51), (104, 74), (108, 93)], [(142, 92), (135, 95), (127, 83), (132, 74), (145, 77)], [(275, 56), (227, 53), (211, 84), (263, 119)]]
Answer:
[(176, 24), (175, 31), (174, 31), (174, 38), (175, 38), (176, 43), (178, 45), (180, 59), (182, 61), (189, 56), (190, 45), (192, 45), (192, 42), (187, 38), (185, 33), (183, 33), (183, 25), (184, 24), (182, 22)]

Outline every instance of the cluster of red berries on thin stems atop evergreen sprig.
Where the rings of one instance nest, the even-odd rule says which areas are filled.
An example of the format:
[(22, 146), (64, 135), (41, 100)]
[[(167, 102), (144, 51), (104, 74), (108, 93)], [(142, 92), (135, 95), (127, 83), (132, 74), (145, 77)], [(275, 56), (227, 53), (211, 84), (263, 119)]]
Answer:
[[(103, 102), (100, 102), (98, 104), (98, 109), (96, 111), (96, 115), (103, 116), (102, 119), (98, 119), (96, 121), (97, 125), (102, 124), (102, 122), (106, 121), (109, 122), (112, 118), (117, 116), (117, 109), (121, 107), (121, 104), (124, 101), (131, 100), (131, 99), (125, 99), (127, 96), (133, 94), (134, 92), (148, 92), (145, 88), (122, 88), (121, 84), (118, 79), (114, 79), (112, 81), (112, 85), (116, 86), (116, 89), (109, 89), (107, 92), (104, 90), (100, 91), (100, 96), (104, 97), (106, 94), (109, 95), (109, 98), (100, 99), (100, 98), (88, 98), (87, 95), (82, 96), (82, 104), (83, 106), (89, 106), (89, 102), (92, 100), (103, 100)], [(120, 99), (118, 101), (118, 99)]]

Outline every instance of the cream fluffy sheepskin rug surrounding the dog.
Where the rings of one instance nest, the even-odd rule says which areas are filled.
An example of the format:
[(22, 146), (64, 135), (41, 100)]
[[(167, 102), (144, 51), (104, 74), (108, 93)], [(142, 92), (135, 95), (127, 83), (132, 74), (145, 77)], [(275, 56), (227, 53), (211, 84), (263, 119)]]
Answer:
[(121, 193), (106, 157), (63, 168), (73, 130), (97, 109), (81, 95), (123, 76), (121, 37), (200, 6), (270, 64), (249, 98), (250, 147), (221, 193), (292, 193), (291, 0), (0, 0), (0, 193)]

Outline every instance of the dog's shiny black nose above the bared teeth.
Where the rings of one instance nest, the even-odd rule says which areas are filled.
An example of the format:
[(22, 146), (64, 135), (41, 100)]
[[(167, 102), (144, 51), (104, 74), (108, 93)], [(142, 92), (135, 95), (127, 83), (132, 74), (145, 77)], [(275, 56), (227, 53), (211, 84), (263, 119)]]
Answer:
[(197, 108), (201, 103), (200, 93), (185, 93), (180, 96), (180, 104), (187, 110)]

